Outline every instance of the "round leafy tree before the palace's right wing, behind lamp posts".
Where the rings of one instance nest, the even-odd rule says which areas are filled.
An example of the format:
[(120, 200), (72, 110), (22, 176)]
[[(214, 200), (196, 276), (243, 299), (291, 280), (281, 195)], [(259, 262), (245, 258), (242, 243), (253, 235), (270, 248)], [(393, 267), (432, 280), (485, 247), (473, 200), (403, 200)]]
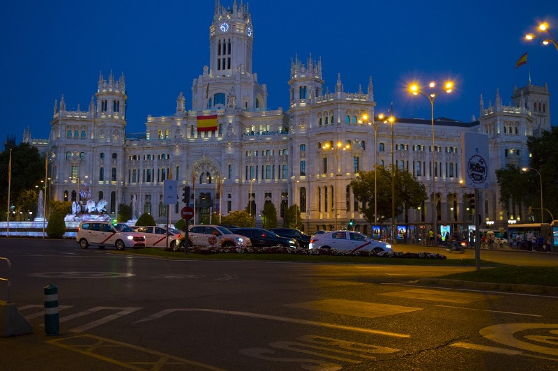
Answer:
[(391, 219), (391, 178), (394, 176), (394, 192), (395, 195), (395, 215), (400, 215), (405, 209), (414, 208), (428, 198), (426, 188), (423, 183), (416, 180), (416, 177), (401, 169), (395, 168), (395, 171), (386, 169), (385, 167), (376, 167), (370, 172), (360, 172), (356, 179), (353, 179), (349, 186), (352, 188), (354, 197), (359, 201), (359, 212), (364, 215), (365, 220), (370, 223), (375, 222), (375, 172), (376, 174), (376, 193), (377, 193), (377, 211), (378, 222), (384, 222)]

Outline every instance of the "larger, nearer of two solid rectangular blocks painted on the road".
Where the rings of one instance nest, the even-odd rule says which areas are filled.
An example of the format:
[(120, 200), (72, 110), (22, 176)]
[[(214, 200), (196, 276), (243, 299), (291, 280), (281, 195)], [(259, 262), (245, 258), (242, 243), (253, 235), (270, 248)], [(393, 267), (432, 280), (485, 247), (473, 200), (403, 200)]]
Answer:
[(401, 305), (368, 303), (344, 299), (326, 299), (307, 301), (305, 303), (285, 304), (285, 307), (319, 310), (321, 312), (349, 315), (355, 317), (376, 318), (400, 313), (415, 312), (423, 308), (403, 307)]

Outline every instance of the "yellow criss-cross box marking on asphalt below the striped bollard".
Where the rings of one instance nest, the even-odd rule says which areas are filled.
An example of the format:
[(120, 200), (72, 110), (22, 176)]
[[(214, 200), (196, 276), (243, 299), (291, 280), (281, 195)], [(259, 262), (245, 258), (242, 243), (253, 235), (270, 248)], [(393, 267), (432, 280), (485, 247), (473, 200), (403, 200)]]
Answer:
[[(128, 344), (126, 342), (100, 338), (95, 335), (77, 335), (70, 338), (57, 338), (48, 340), (47, 343), (131, 370), (161, 370), (165, 366), (169, 368), (176, 368), (179, 366), (188, 370), (197, 370), (200, 368), (202, 370), (225, 371), (221, 368), (205, 365), (204, 363), (171, 356), (170, 354), (138, 347), (137, 345)], [(134, 361), (130, 361), (130, 359)]]

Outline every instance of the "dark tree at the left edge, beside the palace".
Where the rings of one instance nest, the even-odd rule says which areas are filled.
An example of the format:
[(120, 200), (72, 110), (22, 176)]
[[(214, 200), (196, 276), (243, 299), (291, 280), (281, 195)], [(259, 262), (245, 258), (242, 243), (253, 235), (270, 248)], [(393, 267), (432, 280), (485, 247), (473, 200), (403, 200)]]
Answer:
[[(10, 151), (0, 153), (0, 208), (8, 209), (8, 164)], [(12, 180), (10, 184), (10, 202), (17, 199), (21, 193), (29, 190), (36, 191), (45, 179), (45, 156), (40, 156), (37, 147), (28, 143), (20, 143), (12, 149)], [(38, 196), (36, 197), (36, 199)], [(22, 199), (22, 198), (20, 198)], [(14, 203), (15, 204), (15, 203)]]

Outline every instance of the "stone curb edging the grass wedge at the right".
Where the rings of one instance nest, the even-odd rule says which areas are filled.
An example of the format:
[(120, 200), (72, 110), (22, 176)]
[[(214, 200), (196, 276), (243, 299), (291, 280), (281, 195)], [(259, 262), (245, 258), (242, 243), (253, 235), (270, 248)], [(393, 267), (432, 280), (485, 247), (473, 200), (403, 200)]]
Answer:
[(529, 292), (533, 294), (550, 294), (558, 296), (558, 287), (519, 285), (515, 283), (493, 283), (463, 280), (447, 280), (445, 278), (421, 278), (417, 281), (423, 285), (439, 285), (445, 287), (459, 287), (479, 290), (501, 290), (507, 292)]

